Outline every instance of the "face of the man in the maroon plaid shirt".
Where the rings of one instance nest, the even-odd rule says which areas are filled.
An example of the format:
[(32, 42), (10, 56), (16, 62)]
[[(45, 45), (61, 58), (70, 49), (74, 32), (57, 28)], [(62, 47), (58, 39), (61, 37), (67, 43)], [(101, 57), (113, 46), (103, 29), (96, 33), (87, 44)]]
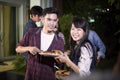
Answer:
[(46, 14), (42, 22), (46, 31), (53, 31), (58, 23), (58, 17), (56, 14)]

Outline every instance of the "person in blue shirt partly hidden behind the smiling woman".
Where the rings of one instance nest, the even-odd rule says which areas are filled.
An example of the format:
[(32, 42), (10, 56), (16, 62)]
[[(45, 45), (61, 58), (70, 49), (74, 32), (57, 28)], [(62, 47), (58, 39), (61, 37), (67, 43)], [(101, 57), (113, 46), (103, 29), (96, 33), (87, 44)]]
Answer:
[(93, 30), (89, 31), (88, 39), (93, 45), (95, 55), (97, 57), (97, 62), (100, 62), (101, 58), (105, 58), (106, 47), (104, 43), (102, 42), (98, 34)]

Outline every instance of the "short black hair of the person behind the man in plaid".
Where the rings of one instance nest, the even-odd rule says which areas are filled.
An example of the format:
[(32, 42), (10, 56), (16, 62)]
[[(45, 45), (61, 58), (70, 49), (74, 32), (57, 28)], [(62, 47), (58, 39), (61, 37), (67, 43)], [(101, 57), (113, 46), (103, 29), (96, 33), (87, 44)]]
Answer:
[(38, 16), (42, 16), (42, 7), (40, 6), (33, 6), (30, 10), (30, 14), (34, 14), (34, 15), (38, 15)]

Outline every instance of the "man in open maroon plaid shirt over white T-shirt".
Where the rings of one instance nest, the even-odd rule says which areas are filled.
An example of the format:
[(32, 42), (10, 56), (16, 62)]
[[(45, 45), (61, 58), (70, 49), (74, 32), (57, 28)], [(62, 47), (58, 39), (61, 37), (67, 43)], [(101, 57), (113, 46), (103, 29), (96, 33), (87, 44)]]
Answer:
[(64, 41), (54, 33), (59, 21), (59, 10), (53, 7), (43, 10), (43, 27), (31, 28), (17, 44), (16, 52), (28, 52), (25, 80), (56, 80), (51, 56), (40, 55), (42, 51), (60, 50), (64, 52)]

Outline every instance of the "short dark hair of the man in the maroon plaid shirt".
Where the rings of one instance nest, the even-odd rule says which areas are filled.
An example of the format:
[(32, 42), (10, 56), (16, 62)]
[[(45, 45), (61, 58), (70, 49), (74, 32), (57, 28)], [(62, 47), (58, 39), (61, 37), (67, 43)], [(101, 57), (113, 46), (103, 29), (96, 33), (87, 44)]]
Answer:
[(57, 8), (48, 7), (43, 10), (43, 16), (45, 16), (46, 14), (51, 14), (51, 13), (56, 14), (58, 17), (60, 16), (59, 10)]

